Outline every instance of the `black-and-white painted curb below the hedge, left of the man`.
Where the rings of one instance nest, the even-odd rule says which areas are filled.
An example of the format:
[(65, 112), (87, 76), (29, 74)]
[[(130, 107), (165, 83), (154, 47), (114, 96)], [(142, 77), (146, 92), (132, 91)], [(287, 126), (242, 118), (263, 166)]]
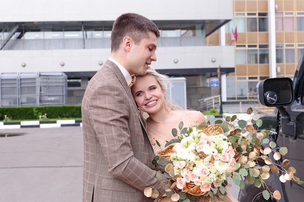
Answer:
[(21, 121), (21, 122), (0, 122), (0, 129), (13, 129), (13, 128), (52, 128), (64, 126), (80, 126), (82, 127), (81, 120), (57, 120), (57, 121)]

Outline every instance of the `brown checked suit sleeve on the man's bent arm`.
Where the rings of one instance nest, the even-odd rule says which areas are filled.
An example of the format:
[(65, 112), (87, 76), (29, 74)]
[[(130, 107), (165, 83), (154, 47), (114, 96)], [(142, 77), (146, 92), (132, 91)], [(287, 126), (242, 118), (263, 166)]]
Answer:
[[(108, 171), (116, 178), (143, 191), (145, 187), (157, 187), (160, 194), (165, 191), (162, 182), (156, 179), (156, 171), (150, 169), (135, 158), (131, 140), (143, 138), (141, 125), (137, 117), (135, 123), (130, 123), (130, 97), (120, 85), (108, 83), (102, 88), (96, 88), (90, 100), (90, 117), (94, 122), (96, 134), (101, 144), (101, 151), (105, 157)], [(130, 130), (130, 127), (135, 127)], [(138, 127), (138, 128), (136, 128)], [(131, 134), (139, 131), (141, 134)], [(136, 144), (144, 147), (144, 143)], [(152, 159), (151, 159), (152, 160)], [(163, 177), (163, 179), (167, 179)]]

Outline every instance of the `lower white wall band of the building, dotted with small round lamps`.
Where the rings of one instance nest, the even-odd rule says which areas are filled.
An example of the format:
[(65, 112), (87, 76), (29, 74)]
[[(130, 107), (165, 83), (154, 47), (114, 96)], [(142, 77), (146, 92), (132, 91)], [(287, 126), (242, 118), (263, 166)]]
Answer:
[[(82, 72), (97, 71), (110, 49), (1, 50), (0, 72)], [(159, 47), (154, 69), (234, 67), (234, 47)], [(215, 58), (216, 62), (211, 59)], [(177, 59), (178, 62), (174, 63)], [(26, 64), (25, 67), (21, 63)], [(60, 62), (65, 65), (61, 66)]]

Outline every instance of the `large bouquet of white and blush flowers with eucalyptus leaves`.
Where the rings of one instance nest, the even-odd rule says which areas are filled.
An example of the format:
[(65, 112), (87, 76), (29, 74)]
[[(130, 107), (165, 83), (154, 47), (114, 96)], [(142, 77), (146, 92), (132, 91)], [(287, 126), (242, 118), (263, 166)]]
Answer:
[[(247, 114), (252, 114), (251, 108)], [(218, 120), (215, 124), (210, 124), (214, 117), (207, 118), (207, 123), (187, 128), (183, 128), (181, 122), (179, 135), (177, 129), (172, 129), (173, 136), (178, 138), (170, 140), (154, 157), (159, 164), (155, 170), (162, 171), (169, 179), (165, 190), (172, 201), (190, 202), (189, 198), (200, 196), (224, 199), (228, 177), (240, 188), (244, 188), (245, 179), (257, 187), (263, 186), (266, 200), (270, 197), (280, 200), (280, 192), (271, 192), (265, 183), (270, 171), (280, 175), (282, 183), (288, 180), (304, 183), (294, 176), (295, 168), (285, 169), (289, 160), (277, 164), (268, 156), (273, 153), (273, 159), (279, 160), (287, 154), (287, 148), (277, 147), (267, 138), (274, 131), (258, 130), (262, 125), (259, 115), (247, 121), (238, 120), (236, 115), (227, 116), (225, 121)], [(160, 173), (157, 178), (162, 180)], [(157, 188), (152, 187), (147, 187), (144, 194), (154, 199), (159, 196)]]

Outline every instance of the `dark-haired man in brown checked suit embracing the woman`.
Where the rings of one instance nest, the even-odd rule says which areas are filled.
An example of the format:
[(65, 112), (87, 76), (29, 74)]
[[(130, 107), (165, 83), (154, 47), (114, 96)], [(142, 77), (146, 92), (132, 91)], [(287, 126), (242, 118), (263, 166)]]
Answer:
[(82, 101), (83, 202), (151, 202), (145, 187), (165, 193), (150, 169), (153, 150), (129, 88), (131, 75), (145, 75), (156, 61), (159, 36), (144, 16), (123, 14), (114, 22), (110, 58), (89, 81)]

